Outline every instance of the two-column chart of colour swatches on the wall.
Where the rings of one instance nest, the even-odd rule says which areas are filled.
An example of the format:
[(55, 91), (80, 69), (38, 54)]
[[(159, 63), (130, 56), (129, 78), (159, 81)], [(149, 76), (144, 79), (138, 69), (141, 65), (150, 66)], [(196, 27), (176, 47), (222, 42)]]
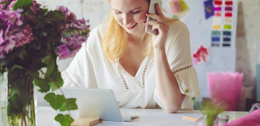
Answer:
[(211, 46), (230, 47), (233, 28), (233, 1), (214, 0), (214, 16), (212, 22)]

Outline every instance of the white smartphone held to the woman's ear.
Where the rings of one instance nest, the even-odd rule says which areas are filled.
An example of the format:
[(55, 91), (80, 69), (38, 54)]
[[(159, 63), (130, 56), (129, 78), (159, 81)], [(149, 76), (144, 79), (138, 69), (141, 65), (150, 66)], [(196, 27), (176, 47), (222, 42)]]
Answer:
[[(156, 8), (155, 8), (155, 3), (159, 4), (159, 7), (161, 9), (162, 6), (162, 1), (161, 0), (151, 0), (150, 5), (149, 5), (149, 10), (148, 13), (152, 13), (152, 14), (157, 14)], [(146, 21), (156, 21), (155, 19), (151, 18), (151, 17), (147, 17)], [(152, 25), (146, 25), (145, 26), (145, 32), (152, 34), (152, 35), (157, 35), (158, 34), (158, 29), (152, 30)]]

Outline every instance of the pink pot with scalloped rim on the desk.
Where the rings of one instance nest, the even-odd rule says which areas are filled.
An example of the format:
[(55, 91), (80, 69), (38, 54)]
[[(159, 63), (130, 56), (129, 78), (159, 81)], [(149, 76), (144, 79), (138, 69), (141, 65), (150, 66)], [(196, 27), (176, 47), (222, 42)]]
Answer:
[(211, 100), (227, 105), (228, 111), (237, 111), (243, 82), (243, 73), (208, 73), (209, 94)]

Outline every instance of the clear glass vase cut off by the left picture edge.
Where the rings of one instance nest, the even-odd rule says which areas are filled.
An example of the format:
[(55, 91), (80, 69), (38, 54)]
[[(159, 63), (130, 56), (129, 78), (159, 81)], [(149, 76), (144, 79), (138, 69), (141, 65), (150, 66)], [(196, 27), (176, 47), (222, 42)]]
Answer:
[(0, 125), (7, 126), (7, 72), (0, 74)]

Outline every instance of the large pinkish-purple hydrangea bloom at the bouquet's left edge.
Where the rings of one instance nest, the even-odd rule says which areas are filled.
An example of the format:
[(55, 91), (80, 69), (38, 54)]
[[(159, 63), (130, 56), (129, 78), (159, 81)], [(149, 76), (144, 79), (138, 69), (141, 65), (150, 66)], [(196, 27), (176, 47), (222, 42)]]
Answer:
[[(11, 5), (11, 4), (10, 4)], [(29, 25), (23, 25), (22, 9), (0, 10), (0, 57), (15, 47), (30, 43), (34, 38)]]

